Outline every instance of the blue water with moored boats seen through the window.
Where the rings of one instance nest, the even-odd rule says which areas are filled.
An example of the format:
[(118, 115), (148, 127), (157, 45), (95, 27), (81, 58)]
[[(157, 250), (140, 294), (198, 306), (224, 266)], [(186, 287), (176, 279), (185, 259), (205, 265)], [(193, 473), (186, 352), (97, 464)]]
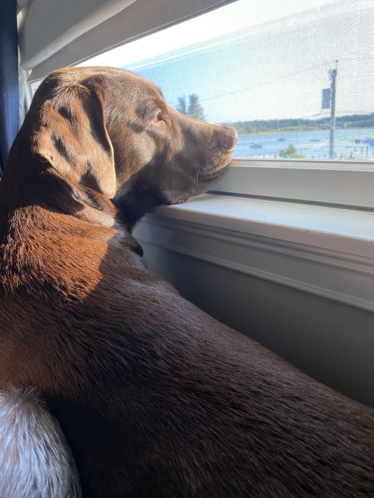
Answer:
[[(291, 144), (306, 159), (329, 159), (330, 131), (241, 135), (233, 157), (279, 157)], [(374, 128), (336, 129), (334, 159), (374, 160)]]

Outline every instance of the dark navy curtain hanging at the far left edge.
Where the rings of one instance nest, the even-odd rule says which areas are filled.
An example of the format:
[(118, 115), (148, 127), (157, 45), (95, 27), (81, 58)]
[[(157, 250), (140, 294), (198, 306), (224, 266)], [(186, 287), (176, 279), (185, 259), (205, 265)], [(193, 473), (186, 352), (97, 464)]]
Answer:
[(0, 6), (0, 174), (18, 130), (17, 3)]

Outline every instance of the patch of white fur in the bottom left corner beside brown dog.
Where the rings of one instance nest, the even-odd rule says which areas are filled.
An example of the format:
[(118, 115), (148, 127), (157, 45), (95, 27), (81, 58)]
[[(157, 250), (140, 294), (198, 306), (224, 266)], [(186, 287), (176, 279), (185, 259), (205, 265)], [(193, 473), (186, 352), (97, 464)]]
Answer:
[(57, 421), (33, 389), (0, 390), (0, 498), (79, 498)]

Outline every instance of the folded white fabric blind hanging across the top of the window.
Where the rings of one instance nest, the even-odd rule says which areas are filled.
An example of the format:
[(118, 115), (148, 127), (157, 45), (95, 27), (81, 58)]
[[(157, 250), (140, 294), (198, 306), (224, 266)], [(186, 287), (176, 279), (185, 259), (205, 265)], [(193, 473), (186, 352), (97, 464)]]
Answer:
[[(231, 0), (232, 1), (232, 0)], [(35, 81), (227, 0), (33, 0), (22, 12), (20, 66)]]

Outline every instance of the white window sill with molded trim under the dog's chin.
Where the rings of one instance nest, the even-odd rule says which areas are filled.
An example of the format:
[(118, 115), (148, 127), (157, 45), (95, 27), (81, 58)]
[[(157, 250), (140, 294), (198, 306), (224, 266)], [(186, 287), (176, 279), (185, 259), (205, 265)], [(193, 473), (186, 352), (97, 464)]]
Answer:
[(374, 214), (205, 194), (162, 206), (140, 241), (374, 311)]

